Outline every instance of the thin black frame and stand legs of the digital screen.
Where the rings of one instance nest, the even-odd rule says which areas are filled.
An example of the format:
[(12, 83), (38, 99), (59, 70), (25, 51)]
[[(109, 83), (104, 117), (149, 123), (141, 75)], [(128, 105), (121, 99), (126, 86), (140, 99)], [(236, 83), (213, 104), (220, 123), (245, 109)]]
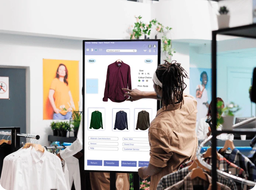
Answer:
[[(84, 49), (84, 43), (85, 42), (138, 42), (138, 41), (155, 41), (158, 42), (158, 65), (160, 64), (160, 53), (161, 53), (161, 40), (160, 39), (138, 39), (138, 40), (83, 40), (83, 87), (85, 87), (85, 76), (84, 76), (84, 56), (85, 56), (85, 49)], [(85, 94), (85, 88), (84, 92)], [(160, 101), (157, 101), (156, 109), (160, 109)], [(84, 96), (83, 96), (83, 115), (84, 115)], [(83, 134), (84, 134), (84, 117), (83, 117)], [(83, 168), (84, 168), (84, 135), (83, 135)], [(110, 173), (110, 190), (116, 190), (115, 187), (115, 173), (133, 173), (134, 174), (134, 190), (139, 190), (139, 175), (138, 172), (127, 172), (127, 171), (97, 171), (97, 170), (84, 170), (84, 172), (106, 172)], [(82, 189), (85, 187), (82, 187)]]

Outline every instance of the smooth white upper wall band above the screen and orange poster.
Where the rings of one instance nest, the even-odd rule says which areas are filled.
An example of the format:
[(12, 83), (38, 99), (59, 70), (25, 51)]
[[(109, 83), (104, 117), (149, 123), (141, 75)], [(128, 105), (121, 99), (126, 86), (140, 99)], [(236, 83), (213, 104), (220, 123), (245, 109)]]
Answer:
[(141, 15), (151, 18), (151, 4), (120, 0), (0, 1), (0, 31), (68, 39), (128, 38), (127, 29)]

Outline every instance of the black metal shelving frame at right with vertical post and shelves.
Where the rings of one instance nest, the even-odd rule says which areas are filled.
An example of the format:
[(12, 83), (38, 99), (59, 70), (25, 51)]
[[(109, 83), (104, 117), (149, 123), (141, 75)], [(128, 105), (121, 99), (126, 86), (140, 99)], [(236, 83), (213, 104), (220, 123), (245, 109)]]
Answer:
[[(246, 38), (256, 38), (256, 24), (245, 25), (241, 27), (219, 29), (212, 31), (212, 44), (211, 44), (211, 56), (212, 56), (212, 104), (217, 105), (217, 34), (239, 36)], [(212, 125), (216, 126), (217, 123), (217, 106), (212, 106)], [(256, 130), (252, 129), (233, 129), (217, 131), (216, 127), (212, 130), (212, 189), (217, 189), (217, 135), (221, 133), (236, 133), (236, 134), (251, 134), (255, 133)]]

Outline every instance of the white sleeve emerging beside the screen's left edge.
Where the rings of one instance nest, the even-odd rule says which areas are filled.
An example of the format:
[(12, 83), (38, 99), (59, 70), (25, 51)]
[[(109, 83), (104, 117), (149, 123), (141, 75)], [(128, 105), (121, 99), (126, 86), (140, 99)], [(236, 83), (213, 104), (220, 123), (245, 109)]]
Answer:
[(75, 155), (77, 152), (83, 149), (83, 116), (79, 125), (77, 132), (77, 139), (72, 143), (72, 145), (66, 147), (63, 151), (60, 152), (60, 157), (62, 159), (69, 158), (70, 156)]

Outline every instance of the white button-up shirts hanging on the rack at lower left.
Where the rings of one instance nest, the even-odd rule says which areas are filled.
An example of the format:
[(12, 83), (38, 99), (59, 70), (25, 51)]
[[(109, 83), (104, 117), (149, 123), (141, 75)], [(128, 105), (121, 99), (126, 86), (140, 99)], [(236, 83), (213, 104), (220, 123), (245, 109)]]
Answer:
[(4, 158), (0, 184), (6, 190), (68, 190), (58, 156), (19, 149)]

